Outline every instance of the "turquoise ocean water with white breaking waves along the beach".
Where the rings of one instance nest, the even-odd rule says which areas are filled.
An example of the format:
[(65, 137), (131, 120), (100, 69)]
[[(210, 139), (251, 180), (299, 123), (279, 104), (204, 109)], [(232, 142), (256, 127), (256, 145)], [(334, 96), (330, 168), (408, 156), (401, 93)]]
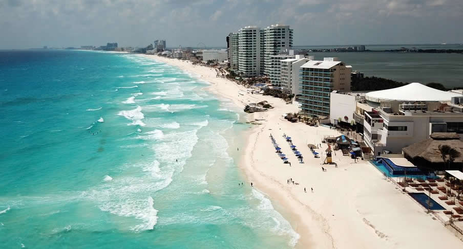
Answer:
[(133, 54), (0, 51), (0, 248), (292, 247), (207, 85)]

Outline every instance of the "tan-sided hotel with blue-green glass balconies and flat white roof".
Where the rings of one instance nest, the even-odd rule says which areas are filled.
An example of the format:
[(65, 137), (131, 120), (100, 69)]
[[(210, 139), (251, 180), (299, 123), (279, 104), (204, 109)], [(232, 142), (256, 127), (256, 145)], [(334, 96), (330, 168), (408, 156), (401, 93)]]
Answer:
[(330, 115), (330, 93), (350, 90), (352, 66), (338, 58), (310, 60), (300, 67), (300, 97), (302, 114), (326, 118)]

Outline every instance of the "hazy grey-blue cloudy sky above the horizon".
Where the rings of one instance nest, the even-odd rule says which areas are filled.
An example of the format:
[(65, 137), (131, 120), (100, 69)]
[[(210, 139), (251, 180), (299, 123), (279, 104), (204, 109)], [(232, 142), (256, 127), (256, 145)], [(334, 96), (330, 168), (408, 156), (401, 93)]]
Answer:
[(0, 0), (0, 49), (226, 47), (255, 25), (290, 25), (294, 46), (462, 43), (462, 0)]

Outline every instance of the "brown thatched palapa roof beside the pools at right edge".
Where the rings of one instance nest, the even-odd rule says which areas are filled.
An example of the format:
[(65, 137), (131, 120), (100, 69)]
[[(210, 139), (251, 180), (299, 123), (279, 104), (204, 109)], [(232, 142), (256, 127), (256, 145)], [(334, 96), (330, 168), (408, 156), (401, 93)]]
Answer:
[(435, 132), (430, 138), (416, 144), (403, 148), (406, 157), (413, 160), (424, 159), (429, 163), (443, 164), (442, 155), (439, 151), (439, 145), (448, 145), (459, 151), (461, 154), (453, 162), (463, 163), (463, 141), (457, 133)]

